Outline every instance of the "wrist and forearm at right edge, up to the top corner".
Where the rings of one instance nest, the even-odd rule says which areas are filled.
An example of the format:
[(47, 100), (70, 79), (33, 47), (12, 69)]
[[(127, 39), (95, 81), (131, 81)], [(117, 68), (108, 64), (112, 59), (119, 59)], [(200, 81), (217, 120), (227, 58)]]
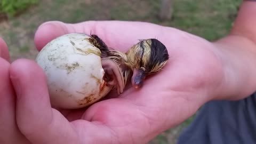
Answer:
[(243, 1), (230, 35), (213, 43), (224, 73), (217, 99), (242, 99), (256, 90), (255, 7), (256, 2)]

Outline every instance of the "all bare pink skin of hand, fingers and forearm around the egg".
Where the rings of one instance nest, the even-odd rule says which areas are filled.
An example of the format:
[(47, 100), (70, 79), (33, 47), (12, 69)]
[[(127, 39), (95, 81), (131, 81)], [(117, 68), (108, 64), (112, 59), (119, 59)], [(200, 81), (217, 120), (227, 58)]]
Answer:
[(254, 7), (254, 3), (244, 2), (231, 34), (217, 42), (145, 22), (44, 23), (35, 35), (38, 51), (68, 33), (96, 34), (121, 51), (138, 39), (152, 37), (166, 45), (167, 65), (148, 77), (141, 90), (127, 89), (88, 109), (51, 108), (43, 70), (33, 60), (7, 62), (7, 48), (0, 41), (0, 90), (7, 89), (0, 91), (0, 130), (5, 131), (0, 142), (147, 143), (210, 100), (247, 97), (256, 86), (256, 29), (252, 27), (256, 22), (253, 24), (249, 14), (256, 12)]

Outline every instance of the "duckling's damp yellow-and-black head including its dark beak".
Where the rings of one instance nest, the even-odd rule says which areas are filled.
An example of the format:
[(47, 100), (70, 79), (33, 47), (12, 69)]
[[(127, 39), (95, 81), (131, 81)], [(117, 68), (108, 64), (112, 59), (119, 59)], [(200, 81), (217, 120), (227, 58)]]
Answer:
[(131, 82), (135, 89), (143, 85), (150, 74), (158, 73), (169, 59), (168, 51), (157, 39), (143, 39), (126, 52), (127, 63), (133, 71)]

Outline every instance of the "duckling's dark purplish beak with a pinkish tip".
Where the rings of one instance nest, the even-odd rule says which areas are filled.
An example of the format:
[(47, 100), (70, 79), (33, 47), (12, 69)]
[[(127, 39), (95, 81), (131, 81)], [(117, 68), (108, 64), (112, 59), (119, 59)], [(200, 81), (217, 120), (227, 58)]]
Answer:
[(143, 85), (143, 81), (146, 77), (145, 71), (142, 69), (133, 69), (133, 75), (132, 75), (132, 86), (135, 89), (140, 89)]

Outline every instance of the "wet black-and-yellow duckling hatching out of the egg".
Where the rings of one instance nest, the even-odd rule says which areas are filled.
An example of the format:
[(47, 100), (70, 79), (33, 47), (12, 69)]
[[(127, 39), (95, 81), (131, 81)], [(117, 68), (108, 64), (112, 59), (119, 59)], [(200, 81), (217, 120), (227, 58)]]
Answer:
[(169, 60), (165, 45), (155, 38), (142, 39), (123, 53), (109, 49), (97, 35), (91, 37), (93, 44), (101, 51), (105, 81), (116, 87), (118, 94), (123, 93), (129, 81), (135, 89), (140, 89), (145, 78), (158, 73)]

